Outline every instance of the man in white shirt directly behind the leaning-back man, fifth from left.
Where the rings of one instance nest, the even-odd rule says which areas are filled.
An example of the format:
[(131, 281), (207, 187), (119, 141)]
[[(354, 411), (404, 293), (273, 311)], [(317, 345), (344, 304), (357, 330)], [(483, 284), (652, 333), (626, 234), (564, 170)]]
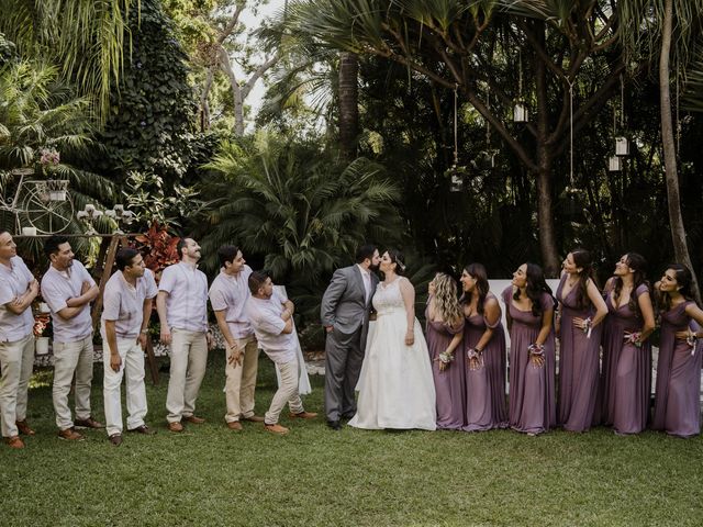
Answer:
[(221, 247), (217, 256), (222, 268), (210, 285), (210, 305), (226, 343), (227, 413), (224, 419), (230, 429), (241, 430), (241, 419), (255, 423), (264, 421), (264, 417), (254, 414), (259, 350), (244, 312), (244, 306), (252, 296), (248, 285), (252, 268), (246, 265), (242, 251), (233, 245)]

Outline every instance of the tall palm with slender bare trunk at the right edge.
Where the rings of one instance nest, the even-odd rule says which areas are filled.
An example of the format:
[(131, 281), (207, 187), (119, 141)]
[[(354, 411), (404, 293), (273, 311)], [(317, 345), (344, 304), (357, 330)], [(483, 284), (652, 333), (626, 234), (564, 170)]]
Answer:
[[(691, 262), (687, 234), (681, 214), (677, 149), (671, 109), (671, 59), (685, 69), (692, 61), (696, 44), (703, 44), (700, 36), (703, 23), (703, 0), (632, 0), (621, 2), (621, 31), (618, 36), (625, 49), (635, 56), (647, 55), (659, 60), (659, 101), (661, 111), (661, 142), (669, 205), (669, 225), (677, 261), (693, 273), (693, 284), (701, 301), (698, 279)], [(643, 31), (645, 29), (645, 31)], [(700, 66), (700, 64), (699, 64)], [(696, 72), (694, 78), (699, 78)]]

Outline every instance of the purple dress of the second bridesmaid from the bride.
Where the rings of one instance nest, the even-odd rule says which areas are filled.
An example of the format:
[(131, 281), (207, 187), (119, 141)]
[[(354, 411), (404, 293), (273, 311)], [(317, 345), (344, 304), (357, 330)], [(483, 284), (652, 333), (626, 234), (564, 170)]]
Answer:
[[(490, 295), (492, 296), (492, 295)], [(489, 298), (490, 298), (489, 296)], [(466, 317), (464, 326), (464, 359), (466, 360), (466, 431), (482, 431), (507, 426), (505, 407), (505, 332), (500, 318), (490, 326), (493, 335), (483, 348), (482, 365), (469, 370), (469, 349), (476, 347), (486, 328), (483, 315)]]

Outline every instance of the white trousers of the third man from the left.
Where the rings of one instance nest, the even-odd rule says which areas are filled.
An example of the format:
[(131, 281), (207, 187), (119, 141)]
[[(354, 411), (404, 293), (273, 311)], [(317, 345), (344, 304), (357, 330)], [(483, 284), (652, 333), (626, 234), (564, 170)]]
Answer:
[(103, 343), (102, 393), (105, 403), (105, 429), (109, 437), (113, 434), (122, 434), (122, 397), (120, 395), (122, 377), (126, 375), (127, 430), (144, 424), (146, 388), (144, 386), (144, 351), (140, 343), (135, 338), (118, 338), (118, 352), (122, 358), (120, 371), (110, 368), (110, 346), (107, 338)]

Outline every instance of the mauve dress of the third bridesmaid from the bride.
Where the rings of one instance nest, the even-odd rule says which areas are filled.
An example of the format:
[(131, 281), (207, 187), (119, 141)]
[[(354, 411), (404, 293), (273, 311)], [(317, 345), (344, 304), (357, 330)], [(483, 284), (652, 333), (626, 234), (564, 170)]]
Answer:
[[(527, 348), (542, 329), (542, 316), (518, 310), (513, 304), (513, 288), (503, 291), (505, 309), (511, 318), (510, 329), (510, 426), (527, 434), (540, 434), (557, 424), (555, 399), (555, 340), (554, 328), (544, 343), (545, 361), (540, 367), (529, 361)], [(542, 310), (554, 310), (554, 301), (545, 292), (539, 299)]]

